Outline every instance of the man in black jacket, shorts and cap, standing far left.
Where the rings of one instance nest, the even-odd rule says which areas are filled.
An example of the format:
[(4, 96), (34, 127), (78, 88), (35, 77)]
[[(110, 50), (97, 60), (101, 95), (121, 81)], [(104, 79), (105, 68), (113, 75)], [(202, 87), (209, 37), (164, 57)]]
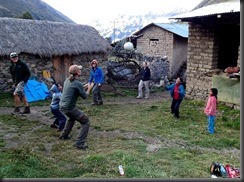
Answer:
[(19, 107), (21, 101), (25, 105), (25, 109), (22, 113), (28, 114), (30, 113), (30, 107), (25, 97), (24, 86), (28, 82), (31, 73), (26, 63), (24, 63), (18, 58), (18, 54), (16, 52), (12, 52), (10, 54), (10, 59), (11, 59), (11, 66), (9, 67), (9, 69), (15, 86), (15, 90), (13, 93), (15, 109), (12, 112), (12, 114), (20, 113)]

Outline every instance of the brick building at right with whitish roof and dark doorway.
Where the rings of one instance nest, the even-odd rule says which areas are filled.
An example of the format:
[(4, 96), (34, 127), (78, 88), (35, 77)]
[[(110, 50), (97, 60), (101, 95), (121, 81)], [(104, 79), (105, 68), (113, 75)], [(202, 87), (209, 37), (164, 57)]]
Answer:
[(239, 107), (240, 75), (230, 78), (224, 70), (240, 66), (240, 1), (207, 4), (172, 18), (189, 23), (187, 97), (204, 100), (216, 87), (219, 101)]

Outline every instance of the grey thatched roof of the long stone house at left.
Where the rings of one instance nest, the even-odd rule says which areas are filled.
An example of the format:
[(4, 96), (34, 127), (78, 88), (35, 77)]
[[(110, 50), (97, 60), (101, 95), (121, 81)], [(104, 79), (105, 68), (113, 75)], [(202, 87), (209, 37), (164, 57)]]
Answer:
[(88, 25), (0, 18), (0, 55), (10, 52), (51, 57), (106, 53), (110, 44)]

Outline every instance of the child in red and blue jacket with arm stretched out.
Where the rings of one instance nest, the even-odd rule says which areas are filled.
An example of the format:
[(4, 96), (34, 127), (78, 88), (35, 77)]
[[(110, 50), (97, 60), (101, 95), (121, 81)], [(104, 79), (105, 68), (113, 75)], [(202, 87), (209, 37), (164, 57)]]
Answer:
[(170, 91), (170, 95), (173, 98), (171, 102), (171, 113), (174, 114), (175, 118), (179, 119), (179, 108), (180, 104), (185, 97), (185, 88), (183, 79), (178, 77), (175, 81), (175, 83), (166, 86), (166, 90)]

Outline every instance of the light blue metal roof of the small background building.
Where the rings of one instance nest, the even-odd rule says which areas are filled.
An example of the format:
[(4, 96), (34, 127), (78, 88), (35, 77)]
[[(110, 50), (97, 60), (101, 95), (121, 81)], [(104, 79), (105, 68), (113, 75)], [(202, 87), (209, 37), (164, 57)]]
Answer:
[(154, 23), (154, 25), (168, 30), (181, 37), (188, 38), (188, 24), (179, 23)]

